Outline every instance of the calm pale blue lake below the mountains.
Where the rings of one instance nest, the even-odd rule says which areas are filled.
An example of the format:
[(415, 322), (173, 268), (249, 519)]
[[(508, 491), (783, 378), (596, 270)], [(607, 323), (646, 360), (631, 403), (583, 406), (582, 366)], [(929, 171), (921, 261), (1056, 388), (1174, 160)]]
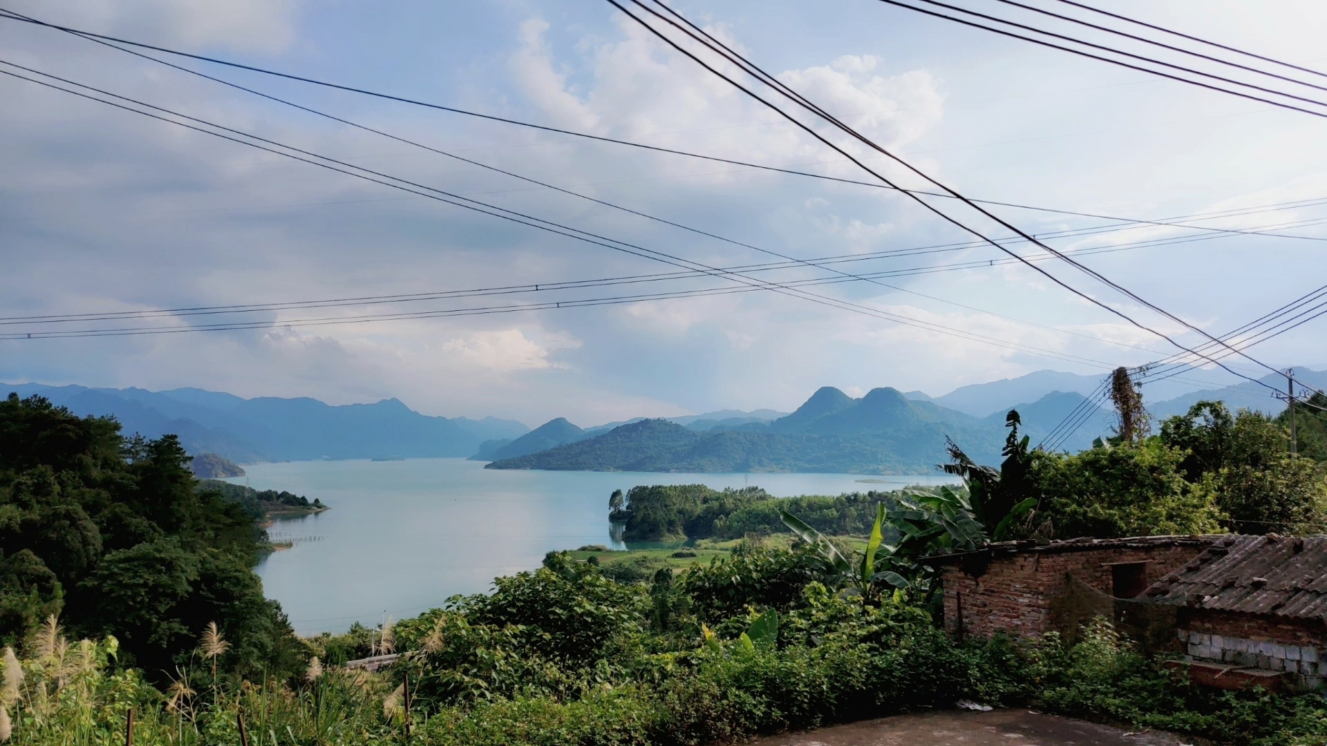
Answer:
[(228, 479), (321, 499), (325, 512), (276, 522), (293, 542), (257, 567), (296, 632), (342, 632), (403, 619), (492, 579), (539, 567), (552, 550), (624, 548), (609, 535), (608, 495), (636, 485), (764, 487), (778, 496), (837, 495), (951, 482), (945, 475), (660, 474), (516, 471), (459, 458), (303, 461), (245, 466)]

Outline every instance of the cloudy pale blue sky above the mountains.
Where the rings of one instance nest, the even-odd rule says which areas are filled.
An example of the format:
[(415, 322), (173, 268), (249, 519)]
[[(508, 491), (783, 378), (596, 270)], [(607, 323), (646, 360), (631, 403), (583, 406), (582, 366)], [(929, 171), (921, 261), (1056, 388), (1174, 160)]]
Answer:
[[(995, 0), (966, 5), (1011, 13)], [(1099, 5), (1327, 68), (1320, 3)], [(872, 181), (594, 0), (9, 0), (0, 7), (443, 106)], [(1327, 230), (1315, 220), (1327, 218), (1327, 206), (1266, 210), (1327, 200), (1323, 118), (876, 0), (686, 0), (674, 8), (963, 195), (1109, 216), (990, 208), (1038, 236), (1113, 226), (1046, 240), (1060, 251), (1088, 250), (1083, 264), (1209, 333), (1235, 329), (1324, 283)], [(0, 333), (163, 332), (0, 338), (0, 381), (198, 386), (330, 404), (397, 397), (426, 414), (592, 425), (727, 408), (791, 410), (823, 385), (855, 396), (876, 386), (938, 396), (1032, 370), (1099, 373), (1176, 352), (1153, 332), (1005, 263), (999, 250), (971, 246), (970, 235), (897, 191), (173, 60), (433, 149), (426, 150), (54, 29), (0, 21), (0, 49), (7, 64), (407, 179), (419, 185), (415, 191), (442, 190), (564, 232), (610, 239), (575, 240), (0, 76)], [(812, 129), (906, 188), (926, 186), (823, 123)], [(1010, 235), (953, 200), (933, 202), (989, 235)], [(1243, 214), (1198, 224), (1283, 235), (1119, 230), (1113, 220), (1231, 210)], [(1205, 240), (1184, 240), (1198, 236)], [(1181, 243), (1156, 243), (1165, 239)], [(617, 248), (602, 246), (612, 242)], [(1136, 246), (1147, 242), (1153, 243)], [(798, 263), (829, 256), (852, 260), (833, 269)], [(775, 261), (788, 265), (744, 280), (713, 271)], [(1180, 344), (1201, 341), (1067, 264), (1039, 265)], [(844, 276), (881, 272), (894, 275)], [(617, 284), (547, 288), (605, 279)], [(767, 285), (816, 279), (837, 281), (800, 291)], [(536, 284), (545, 288), (533, 291)], [(21, 319), (492, 288), (507, 289), (251, 313)], [(691, 295), (625, 301), (679, 292)], [(604, 304), (613, 299), (622, 301)], [(598, 304), (576, 307), (587, 300)], [(540, 303), (572, 307), (511, 311)], [(456, 309), (486, 312), (418, 317)], [(417, 317), (356, 319), (390, 313)], [(231, 321), (249, 328), (194, 331)], [(1322, 323), (1311, 321), (1250, 352), (1273, 366), (1323, 368), (1320, 333)], [(1230, 365), (1241, 373), (1266, 373), (1237, 360)], [(1221, 370), (1192, 377), (1196, 386), (1222, 378), (1233, 377)]]

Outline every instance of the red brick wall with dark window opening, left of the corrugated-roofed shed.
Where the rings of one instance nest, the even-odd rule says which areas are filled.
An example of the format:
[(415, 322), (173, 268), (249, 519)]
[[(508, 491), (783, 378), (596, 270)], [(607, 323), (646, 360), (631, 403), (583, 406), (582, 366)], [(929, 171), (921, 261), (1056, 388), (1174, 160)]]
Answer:
[(1074, 575), (1109, 595), (1111, 565), (1147, 561), (1147, 583), (1196, 558), (1202, 547), (1111, 547), (1085, 551), (1031, 548), (994, 558), (985, 573), (969, 575), (957, 564), (943, 568), (945, 629), (950, 634), (1039, 637), (1052, 629), (1052, 605)]

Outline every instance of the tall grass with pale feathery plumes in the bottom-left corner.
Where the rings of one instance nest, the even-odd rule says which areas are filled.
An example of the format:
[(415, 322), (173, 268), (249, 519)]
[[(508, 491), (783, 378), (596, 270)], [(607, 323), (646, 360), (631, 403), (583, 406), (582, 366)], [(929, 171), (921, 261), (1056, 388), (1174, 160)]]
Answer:
[[(214, 636), (215, 637), (215, 636)], [(219, 637), (208, 650), (218, 650)], [(119, 746), (130, 710), (135, 746), (239, 743), (243, 715), (251, 746), (391, 743), (389, 685), (365, 672), (311, 666), (305, 682), (214, 685), (199, 693), (187, 672), (165, 693), (138, 670), (115, 665), (114, 637), (69, 642), (54, 617), (20, 657), (5, 648), (0, 672), (0, 741), (20, 746)], [(224, 650), (223, 650), (224, 652)], [(210, 670), (204, 670), (207, 676)]]

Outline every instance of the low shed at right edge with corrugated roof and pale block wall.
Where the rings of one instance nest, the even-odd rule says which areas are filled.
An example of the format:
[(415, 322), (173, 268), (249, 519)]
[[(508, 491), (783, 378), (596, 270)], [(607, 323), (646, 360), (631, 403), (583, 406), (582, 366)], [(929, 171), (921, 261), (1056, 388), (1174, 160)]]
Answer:
[(1225, 536), (1144, 597), (1174, 609), (1194, 681), (1316, 688), (1327, 676), (1327, 536)]

